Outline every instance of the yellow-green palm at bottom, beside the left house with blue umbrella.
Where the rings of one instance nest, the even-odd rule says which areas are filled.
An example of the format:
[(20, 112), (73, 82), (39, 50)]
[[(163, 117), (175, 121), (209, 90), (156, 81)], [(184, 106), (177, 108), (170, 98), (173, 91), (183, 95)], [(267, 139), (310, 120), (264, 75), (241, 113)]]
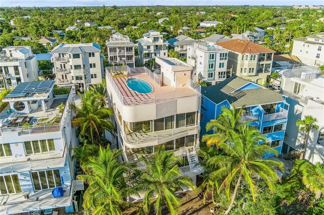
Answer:
[(135, 194), (127, 186), (129, 167), (119, 163), (122, 150), (100, 147), (99, 155), (93, 156), (82, 165), (86, 175), (78, 175), (78, 179), (89, 184), (84, 194), (84, 208), (92, 214), (123, 214), (121, 208), (130, 205), (126, 201), (129, 194)]

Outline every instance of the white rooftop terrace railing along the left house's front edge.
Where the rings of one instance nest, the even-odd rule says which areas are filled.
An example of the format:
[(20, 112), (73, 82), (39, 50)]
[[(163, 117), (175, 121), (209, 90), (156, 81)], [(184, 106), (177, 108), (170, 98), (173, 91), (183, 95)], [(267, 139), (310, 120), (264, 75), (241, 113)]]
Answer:
[(13, 128), (2, 128), (0, 129), (0, 137), (7, 133), (17, 133), (18, 135), (29, 135), (39, 133), (58, 132), (61, 130), (61, 126), (58, 124), (53, 125), (35, 125), (28, 127), (13, 127)]

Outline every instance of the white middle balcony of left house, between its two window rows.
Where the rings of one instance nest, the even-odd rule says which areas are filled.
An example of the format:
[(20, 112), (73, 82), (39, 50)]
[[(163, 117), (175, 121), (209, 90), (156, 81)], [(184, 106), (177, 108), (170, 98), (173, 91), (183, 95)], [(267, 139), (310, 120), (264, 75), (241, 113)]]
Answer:
[[(1, 159), (0, 172), (7, 173), (13, 171), (35, 171), (48, 168), (64, 167), (66, 158), (66, 146), (64, 151), (50, 151), (49, 153), (31, 154), (26, 157)], [(14, 160), (17, 159), (17, 162)], [(21, 161), (23, 160), (24, 161)]]

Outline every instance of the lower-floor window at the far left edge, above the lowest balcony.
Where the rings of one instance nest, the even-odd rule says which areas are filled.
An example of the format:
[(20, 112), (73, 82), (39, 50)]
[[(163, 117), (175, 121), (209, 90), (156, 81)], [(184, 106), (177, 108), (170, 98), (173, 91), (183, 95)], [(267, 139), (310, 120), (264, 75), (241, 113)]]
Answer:
[(0, 176), (0, 194), (21, 193), (18, 175)]

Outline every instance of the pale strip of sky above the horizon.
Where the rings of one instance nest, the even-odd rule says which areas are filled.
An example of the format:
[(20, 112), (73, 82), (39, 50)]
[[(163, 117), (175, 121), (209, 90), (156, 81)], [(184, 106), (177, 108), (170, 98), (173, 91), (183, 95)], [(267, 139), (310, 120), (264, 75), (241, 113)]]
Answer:
[(324, 5), (323, 0), (164, 0), (164, 1), (155, 1), (155, 0), (0, 0), (1, 7), (73, 7), (73, 6), (155, 6), (155, 5), (166, 5), (166, 6), (198, 6), (198, 5), (273, 5), (273, 6), (282, 6), (282, 5)]

